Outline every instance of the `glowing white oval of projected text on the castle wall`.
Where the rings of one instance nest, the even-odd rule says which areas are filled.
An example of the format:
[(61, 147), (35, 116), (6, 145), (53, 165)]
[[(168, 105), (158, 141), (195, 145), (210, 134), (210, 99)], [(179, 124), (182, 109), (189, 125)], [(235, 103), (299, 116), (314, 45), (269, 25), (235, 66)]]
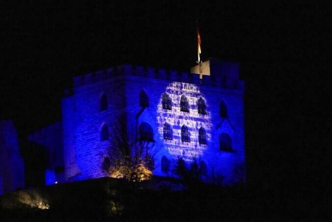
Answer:
[[(163, 95), (167, 93), (171, 98), (171, 110), (163, 109)], [(164, 141), (165, 151), (174, 157), (192, 160), (192, 157), (201, 157), (206, 144), (199, 144), (199, 128), (206, 131), (206, 142), (211, 141), (212, 124), (210, 122), (209, 103), (198, 87), (193, 84), (173, 82), (166, 91), (160, 95), (158, 104), (157, 127), (161, 140)], [(188, 100), (189, 112), (180, 111), (181, 96), (186, 96)], [(164, 96), (165, 97), (165, 96)], [(206, 115), (199, 114), (197, 110), (198, 99), (202, 97), (206, 104)], [(167, 123), (172, 129), (172, 140), (164, 139), (164, 124)], [(181, 141), (181, 127), (188, 127), (190, 142)]]

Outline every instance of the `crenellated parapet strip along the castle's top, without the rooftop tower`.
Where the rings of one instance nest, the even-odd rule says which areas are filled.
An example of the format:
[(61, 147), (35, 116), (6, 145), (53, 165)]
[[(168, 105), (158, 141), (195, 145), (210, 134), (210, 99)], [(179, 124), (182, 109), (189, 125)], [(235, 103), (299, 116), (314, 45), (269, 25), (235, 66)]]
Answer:
[(213, 74), (203, 75), (200, 79), (200, 74), (195, 73), (178, 72), (174, 70), (122, 64), (113, 68), (108, 68), (94, 73), (87, 73), (85, 75), (74, 77), (74, 88), (95, 82), (104, 81), (118, 76), (131, 75), (145, 78), (191, 83), (197, 85), (221, 87), (227, 89), (244, 90), (244, 81), (229, 78), (226, 74), (216, 76), (214, 76)]

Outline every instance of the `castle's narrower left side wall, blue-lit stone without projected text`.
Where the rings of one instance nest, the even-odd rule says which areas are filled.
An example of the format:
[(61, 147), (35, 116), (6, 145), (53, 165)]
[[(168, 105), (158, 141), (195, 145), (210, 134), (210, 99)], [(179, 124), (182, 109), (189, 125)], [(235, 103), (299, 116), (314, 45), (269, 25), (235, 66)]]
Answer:
[[(68, 180), (105, 176), (101, 154), (109, 141), (100, 140), (104, 124), (111, 126), (125, 112), (124, 78), (115, 77), (73, 89), (62, 99), (65, 175)], [(100, 111), (100, 96), (108, 96), (108, 109)]]

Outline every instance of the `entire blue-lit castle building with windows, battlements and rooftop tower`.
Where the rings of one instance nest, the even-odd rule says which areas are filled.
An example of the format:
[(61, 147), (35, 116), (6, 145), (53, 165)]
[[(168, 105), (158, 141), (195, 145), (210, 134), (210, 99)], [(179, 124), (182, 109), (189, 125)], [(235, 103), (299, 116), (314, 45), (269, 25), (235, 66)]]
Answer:
[(191, 73), (123, 64), (75, 77), (62, 121), (29, 140), (47, 147), (51, 171), (64, 166), (49, 184), (104, 177), (101, 154), (126, 114), (129, 133), (155, 142), (154, 175), (172, 175), (177, 158), (187, 166), (196, 158), (206, 181), (234, 184), (245, 180), (243, 96), (238, 63), (210, 59)]

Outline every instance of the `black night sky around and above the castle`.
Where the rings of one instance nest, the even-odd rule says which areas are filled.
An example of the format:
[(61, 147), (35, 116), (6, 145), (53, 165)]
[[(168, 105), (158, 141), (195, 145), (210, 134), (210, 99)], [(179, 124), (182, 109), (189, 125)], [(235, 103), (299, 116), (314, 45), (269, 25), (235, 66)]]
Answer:
[(21, 150), (29, 133), (61, 119), (60, 98), (74, 76), (122, 63), (189, 71), (198, 19), (202, 59), (240, 63), (246, 82), (248, 180), (325, 183), (332, 132), (327, 5), (21, 1), (0, 8), (0, 119), (14, 121)]

